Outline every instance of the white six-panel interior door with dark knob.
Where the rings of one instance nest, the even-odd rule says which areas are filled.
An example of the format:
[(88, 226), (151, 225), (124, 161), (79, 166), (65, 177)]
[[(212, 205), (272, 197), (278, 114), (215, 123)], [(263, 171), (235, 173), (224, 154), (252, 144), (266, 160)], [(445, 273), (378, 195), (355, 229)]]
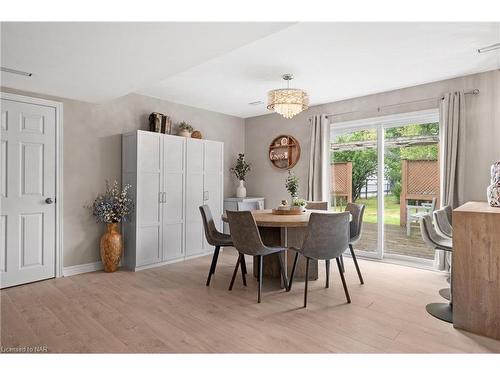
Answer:
[(56, 110), (2, 98), (1, 287), (55, 277)]

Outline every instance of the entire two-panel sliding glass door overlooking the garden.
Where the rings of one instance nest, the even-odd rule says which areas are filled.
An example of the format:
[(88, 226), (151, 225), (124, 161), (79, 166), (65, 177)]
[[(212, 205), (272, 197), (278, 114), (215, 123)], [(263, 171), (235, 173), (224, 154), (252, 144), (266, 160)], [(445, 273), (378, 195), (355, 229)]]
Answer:
[(331, 206), (365, 205), (361, 256), (433, 265), (419, 220), (439, 207), (439, 139), (437, 110), (332, 123)]

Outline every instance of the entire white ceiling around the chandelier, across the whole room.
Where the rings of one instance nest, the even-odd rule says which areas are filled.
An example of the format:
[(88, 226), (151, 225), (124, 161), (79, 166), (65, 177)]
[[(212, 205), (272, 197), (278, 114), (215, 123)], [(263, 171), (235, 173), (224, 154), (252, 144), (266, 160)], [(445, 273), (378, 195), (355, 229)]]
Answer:
[(500, 23), (2, 24), (2, 85), (102, 101), (129, 92), (240, 117), (283, 73), (311, 105), (500, 68)]

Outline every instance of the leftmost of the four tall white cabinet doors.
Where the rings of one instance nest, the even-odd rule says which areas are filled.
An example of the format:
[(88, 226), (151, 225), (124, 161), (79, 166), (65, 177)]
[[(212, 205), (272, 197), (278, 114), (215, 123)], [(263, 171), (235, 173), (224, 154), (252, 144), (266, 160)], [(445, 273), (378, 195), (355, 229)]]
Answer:
[(158, 263), (162, 258), (160, 137), (161, 134), (149, 132), (137, 135), (137, 267)]

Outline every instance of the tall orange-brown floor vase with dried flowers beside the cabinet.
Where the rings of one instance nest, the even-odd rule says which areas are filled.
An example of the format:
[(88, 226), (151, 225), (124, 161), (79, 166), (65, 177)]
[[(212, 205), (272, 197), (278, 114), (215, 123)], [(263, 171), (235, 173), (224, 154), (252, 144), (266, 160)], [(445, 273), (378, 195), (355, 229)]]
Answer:
[(123, 253), (123, 239), (119, 223), (127, 221), (134, 210), (134, 202), (129, 196), (130, 185), (120, 188), (117, 181), (112, 185), (106, 181), (106, 191), (98, 195), (88, 208), (98, 223), (106, 224), (106, 232), (101, 237), (101, 260), (105, 272), (115, 272)]

